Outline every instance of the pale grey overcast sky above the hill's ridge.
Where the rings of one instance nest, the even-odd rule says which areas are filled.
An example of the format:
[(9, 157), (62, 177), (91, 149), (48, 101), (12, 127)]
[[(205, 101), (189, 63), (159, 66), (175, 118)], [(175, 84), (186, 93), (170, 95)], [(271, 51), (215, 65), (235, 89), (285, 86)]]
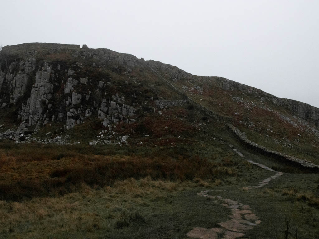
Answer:
[(87, 44), (319, 107), (319, 1), (2, 1), (0, 44)]

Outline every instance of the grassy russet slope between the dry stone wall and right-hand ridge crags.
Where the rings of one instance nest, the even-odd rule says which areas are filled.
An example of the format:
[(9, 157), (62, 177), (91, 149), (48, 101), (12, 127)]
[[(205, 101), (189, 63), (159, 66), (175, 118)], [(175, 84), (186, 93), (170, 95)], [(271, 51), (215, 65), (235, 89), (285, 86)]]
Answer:
[[(182, 84), (179, 83), (178, 86), (182, 87)], [(269, 101), (261, 103), (261, 96), (258, 95), (244, 94), (239, 90), (223, 90), (215, 85), (204, 85), (202, 94), (189, 92), (186, 94), (197, 103), (230, 121), (245, 132), (249, 140), (287, 155), (310, 160), (315, 164), (319, 163), (318, 136), (295, 119), (288, 109)], [(234, 97), (243, 99), (243, 102), (235, 102)], [(290, 118), (297, 127), (280, 115)], [(251, 123), (254, 126), (251, 126)], [(314, 125), (311, 126), (318, 130)]]

